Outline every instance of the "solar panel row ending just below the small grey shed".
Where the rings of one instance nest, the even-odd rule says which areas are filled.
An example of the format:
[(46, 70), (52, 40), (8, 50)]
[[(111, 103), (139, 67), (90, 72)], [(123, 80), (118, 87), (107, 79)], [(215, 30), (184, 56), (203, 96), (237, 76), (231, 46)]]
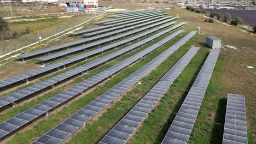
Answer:
[(220, 50), (211, 50), (193, 86), (183, 101), (170, 129), (168, 130), (163, 144), (187, 143), (193, 129), (197, 113), (200, 109), (214, 66), (217, 62)]

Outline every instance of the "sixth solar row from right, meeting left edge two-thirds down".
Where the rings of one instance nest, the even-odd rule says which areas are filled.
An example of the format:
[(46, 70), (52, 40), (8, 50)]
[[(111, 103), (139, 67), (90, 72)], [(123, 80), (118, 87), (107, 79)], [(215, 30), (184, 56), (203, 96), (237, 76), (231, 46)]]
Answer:
[[(180, 26), (182, 26), (182, 25), (180, 25)], [(175, 27), (175, 28), (177, 28), (177, 27)], [(166, 29), (165, 31), (162, 31), (162, 32), (160, 32), (160, 33), (161, 33), (161, 35), (164, 35), (164, 34), (170, 32), (170, 31), (172, 31), (172, 30), (173, 30), (173, 28), (168, 28), (168, 29)], [(181, 33), (181, 31), (179, 31), (178, 33)], [(178, 33), (177, 33), (177, 34), (178, 34)], [(144, 41), (144, 43), (139, 42), (139, 43), (140, 43), (139, 45), (133, 44), (133, 45), (127, 46), (125, 49), (121, 49), (121, 50), (119, 50), (119, 51), (110, 53), (110, 54), (107, 55), (107, 56), (104, 56), (104, 57), (101, 57), (101, 58), (96, 59), (95, 61), (91, 61), (91, 62), (89, 62), (89, 63), (83, 64), (83, 65), (81, 65), (81, 66), (79, 66), (79, 67), (77, 67), (77, 68), (75, 68), (75, 69), (72, 69), (72, 70), (69, 70), (69, 71), (67, 71), (67, 72), (65, 72), (65, 73), (62, 73), (62, 74), (60, 74), (60, 75), (51, 77), (51, 78), (48, 79), (48, 80), (44, 80), (44, 81), (42, 81), (42, 82), (36, 83), (35, 85), (32, 85), (32, 86), (27, 87), (27, 88), (25, 88), (25, 89), (28, 89), (28, 88), (31, 88), (31, 87), (37, 87), (37, 91), (36, 91), (36, 92), (41, 91), (42, 89), (44, 89), (44, 88), (46, 88), (46, 87), (53, 86), (54, 84), (56, 84), (56, 83), (58, 83), (58, 82), (61, 81), (61, 80), (57, 80), (57, 81), (56, 81), (56, 77), (65, 77), (65, 79), (68, 79), (68, 77), (77, 75), (77, 74), (79, 74), (79, 73), (83, 73), (83, 71), (86, 71), (86, 70), (88, 70), (88, 69), (94, 68), (96, 65), (99, 65), (99, 64), (102, 64), (102, 63), (104, 63), (104, 62), (107, 62), (107, 61), (109, 61), (110, 59), (112, 59), (112, 58), (114, 58), (114, 57), (120, 56), (120, 55), (122, 55), (123, 53), (128, 52), (128, 51), (130, 51), (130, 50), (133, 50), (133, 49), (135, 49), (135, 48), (137, 48), (137, 47), (139, 47), (139, 46), (141, 46), (141, 45), (143, 45), (143, 44), (148, 43), (148, 41), (151, 41), (151, 40), (156, 39), (156, 38), (158, 38), (158, 37), (159, 37), (158, 35), (154, 35), (154, 36), (149, 37), (148, 39), (146, 39), (146, 41)], [(72, 74), (69, 74), (69, 73), (72, 73)], [(114, 73), (112, 73), (112, 74), (114, 74)], [(112, 75), (112, 74), (110, 74), (110, 75)], [(110, 76), (110, 75), (108, 75), (108, 76)], [(99, 80), (102, 79), (101, 76), (98, 76), (98, 77), (99, 77)], [(65, 79), (62, 79), (62, 80), (65, 80)], [(96, 82), (100, 82), (100, 81), (92, 80), (92, 79), (88, 79), (88, 80), (89, 80), (89, 81), (92, 81), (92, 83), (94, 83), (95, 81), (96, 81)], [(43, 87), (42, 87), (42, 86), (43, 86)], [(41, 87), (41, 88), (40, 88), (40, 87)], [(22, 98), (24, 98), (24, 97), (27, 97), (28, 95), (31, 95), (31, 94), (33, 94), (33, 93), (36, 93), (36, 92), (24, 93), (24, 92), (22, 92), (22, 91), (23, 91), (23, 90), (20, 90), (20, 91), (18, 91), (18, 92), (12, 93), (12, 94), (10, 94), (10, 95), (8, 95), (8, 96), (6, 96), (6, 97), (0, 98), (0, 100), (1, 100), (1, 101), (7, 101), (7, 102), (9, 102), (9, 104), (11, 104), (11, 103), (13, 103), (13, 102), (16, 101), (16, 100), (22, 99)], [(21, 94), (21, 92), (24, 93), (24, 94)], [(10, 99), (10, 100), (7, 100), (7, 99)], [(0, 103), (0, 104), (1, 104), (1, 103)], [(0, 105), (0, 107), (3, 107), (3, 106), (5, 106), (5, 105), (8, 105), (8, 104), (7, 104), (7, 103), (2, 103), (2, 105)], [(56, 104), (54, 104), (54, 105), (56, 105)]]

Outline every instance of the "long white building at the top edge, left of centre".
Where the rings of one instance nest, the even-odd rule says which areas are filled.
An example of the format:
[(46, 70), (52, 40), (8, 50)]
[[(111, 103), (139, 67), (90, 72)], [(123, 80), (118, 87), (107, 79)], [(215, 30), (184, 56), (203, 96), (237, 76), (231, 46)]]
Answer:
[[(60, 5), (67, 4), (67, 5), (94, 5), (94, 7), (98, 7), (98, 0), (58, 0)], [(91, 8), (89, 7), (89, 8)]]

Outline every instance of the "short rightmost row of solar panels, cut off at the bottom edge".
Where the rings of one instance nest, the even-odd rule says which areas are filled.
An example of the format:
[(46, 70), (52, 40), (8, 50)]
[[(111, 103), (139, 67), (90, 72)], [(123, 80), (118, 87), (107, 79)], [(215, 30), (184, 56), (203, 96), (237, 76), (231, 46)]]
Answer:
[(245, 95), (228, 94), (223, 144), (247, 143)]

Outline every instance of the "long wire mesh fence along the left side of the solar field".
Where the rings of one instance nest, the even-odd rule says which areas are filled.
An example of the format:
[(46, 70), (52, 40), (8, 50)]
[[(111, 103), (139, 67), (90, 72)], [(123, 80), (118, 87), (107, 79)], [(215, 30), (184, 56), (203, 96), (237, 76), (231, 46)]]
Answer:
[(1, 42), (3, 44), (0, 45), (0, 56), (5, 55), (6, 53), (9, 53), (9, 52), (18, 50), (27, 45), (36, 43), (39, 41), (39, 37), (41, 37), (42, 39), (45, 39), (57, 33), (66, 31), (67, 29), (75, 27), (85, 21), (88, 21), (97, 15), (100, 15), (100, 14), (91, 14), (86, 16), (85, 19), (83, 20), (70, 21), (69, 25), (47, 28), (46, 30), (43, 30), (43, 31), (42, 30), (37, 31), (36, 29), (31, 28), (30, 31), (33, 33), (21, 35), (19, 40), (12, 39), (12, 40), (5, 40)]

